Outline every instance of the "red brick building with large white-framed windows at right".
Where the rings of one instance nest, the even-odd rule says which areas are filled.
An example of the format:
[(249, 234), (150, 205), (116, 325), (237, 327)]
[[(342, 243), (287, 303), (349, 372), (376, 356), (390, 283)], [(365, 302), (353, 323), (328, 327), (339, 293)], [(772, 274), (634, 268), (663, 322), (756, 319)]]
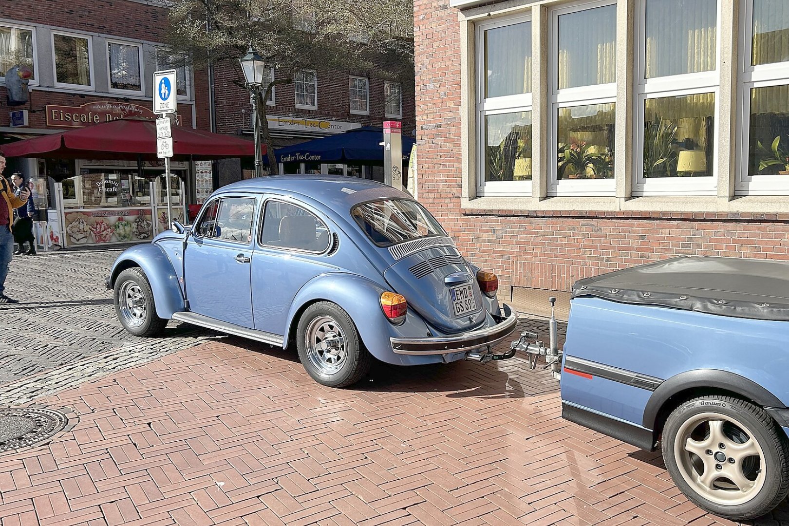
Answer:
[(785, 0), (414, 9), (419, 196), (503, 297), (678, 254), (789, 259)]

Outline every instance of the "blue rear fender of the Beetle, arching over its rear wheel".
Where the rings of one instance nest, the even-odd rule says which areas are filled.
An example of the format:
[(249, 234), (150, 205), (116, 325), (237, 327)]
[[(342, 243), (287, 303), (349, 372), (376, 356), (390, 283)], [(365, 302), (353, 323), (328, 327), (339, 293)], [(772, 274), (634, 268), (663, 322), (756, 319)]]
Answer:
[[(389, 323), (380, 306), (381, 293), (387, 290), (390, 289), (356, 274), (335, 272), (317, 276), (301, 287), (290, 304), (285, 334), (296, 334), (299, 316), (309, 304), (330, 301), (350, 315), (362, 343), (372, 356), (389, 364), (401, 363), (402, 360), (398, 360), (398, 355), (392, 351), (389, 338), (422, 336), (429, 330), (424, 321), (410, 310), (402, 325)], [(285, 338), (284, 345), (288, 345), (289, 339)]]

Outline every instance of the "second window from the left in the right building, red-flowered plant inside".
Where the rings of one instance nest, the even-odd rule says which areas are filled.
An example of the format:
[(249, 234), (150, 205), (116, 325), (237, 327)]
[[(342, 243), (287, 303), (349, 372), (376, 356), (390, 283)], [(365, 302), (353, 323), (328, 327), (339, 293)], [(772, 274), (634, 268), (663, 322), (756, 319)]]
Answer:
[(616, 6), (555, 9), (552, 28), (550, 115), (557, 158), (549, 194), (612, 195)]

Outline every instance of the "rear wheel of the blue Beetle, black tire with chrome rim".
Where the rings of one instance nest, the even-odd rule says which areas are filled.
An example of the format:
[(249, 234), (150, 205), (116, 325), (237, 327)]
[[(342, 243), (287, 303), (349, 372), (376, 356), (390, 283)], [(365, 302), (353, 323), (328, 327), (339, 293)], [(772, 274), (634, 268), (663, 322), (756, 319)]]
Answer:
[[(362, 345), (350, 315), (329, 301), (312, 304), (304, 311), (296, 342), (301, 364), (324, 386), (350, 386), (364, 378), (372, 364), (372, 355)], [(328, 348), (320, 349), (320, 345)]]

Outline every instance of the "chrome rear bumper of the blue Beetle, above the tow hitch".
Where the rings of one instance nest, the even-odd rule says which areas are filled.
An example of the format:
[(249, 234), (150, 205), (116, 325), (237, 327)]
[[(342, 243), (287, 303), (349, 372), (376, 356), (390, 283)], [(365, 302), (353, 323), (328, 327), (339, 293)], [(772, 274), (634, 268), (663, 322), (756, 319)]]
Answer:
[[(515, 323), (518, 321), (518, 313), (509, 305), (502, 304), (501, 310), (503, 315), (493, 315), (493, 319), (496, 322), (495, 325), (484, 329), (472, 330), (467, 333), (455, 334), (453, 336), (389, 338), (389, 341), (391, 341), (394, 353), (411, 356), (458, 353), (460, 351), (469, 351), (479, 349), (480, 347), (492, 346), (512, 334), (512, 331), (515, 330)], [(501, 358), (499, 358), (499, 360), (500, 359)]]

